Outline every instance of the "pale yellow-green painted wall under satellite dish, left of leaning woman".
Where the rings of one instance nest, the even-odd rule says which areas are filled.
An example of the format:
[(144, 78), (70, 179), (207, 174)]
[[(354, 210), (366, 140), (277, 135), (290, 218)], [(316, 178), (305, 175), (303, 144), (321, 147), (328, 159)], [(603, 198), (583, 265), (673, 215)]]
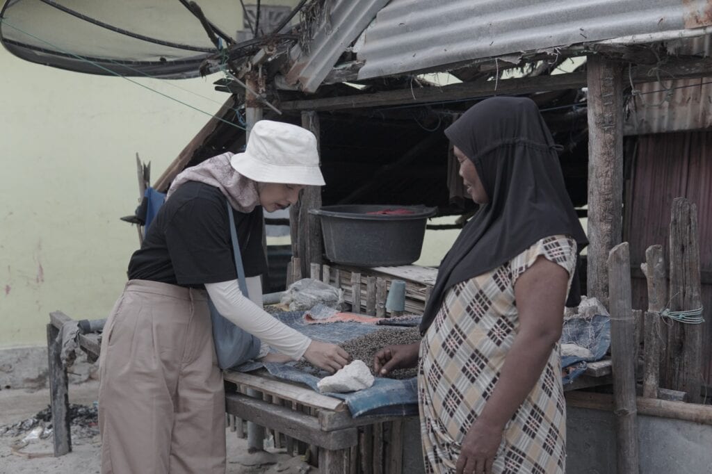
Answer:
[[(214, 79), (137, 82), (212, 114), (227, 98)], [(43, 344), (53, 310), (108, 315), (138, 246), (119, 220), (137, 204), (136, 152), (155, 179), (207, 120), (127, 80), (0, 47), (0, 347)]]

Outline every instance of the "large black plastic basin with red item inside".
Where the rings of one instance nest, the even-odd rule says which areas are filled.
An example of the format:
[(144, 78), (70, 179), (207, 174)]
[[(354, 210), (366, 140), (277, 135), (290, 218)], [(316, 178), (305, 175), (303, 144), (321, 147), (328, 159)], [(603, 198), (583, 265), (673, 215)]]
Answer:
[[(370, 212), (405, 209), (413, 214)], [(409, 265), (420, 258), (425, 225), (436, 208), (425, 206), (324, 206), (319, 216), (329, 260), (343, 265), (379, 267)]]

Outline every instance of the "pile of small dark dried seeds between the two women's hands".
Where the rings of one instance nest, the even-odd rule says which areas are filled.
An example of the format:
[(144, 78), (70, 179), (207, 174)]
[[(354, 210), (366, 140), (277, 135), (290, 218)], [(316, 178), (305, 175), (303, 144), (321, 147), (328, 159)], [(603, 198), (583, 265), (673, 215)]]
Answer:
[[(407, 329), (387, 327), (343, 342), (339, 346), (351, 355), (352, 360), (362, 360), (373, 372), (373, 356), (376, 352), (391, 344), (414, 344), (420, 342), (420, 339), (418, 327), (409, 327)], [(298, 362), (295, 367), (308, 372), (318, 371), (317, 368), (306, 361)], [(415, 368), (398, 369), (388, 374), (387, 377), (390, 379), (410, 379), (416, 375), (417, 369)]]

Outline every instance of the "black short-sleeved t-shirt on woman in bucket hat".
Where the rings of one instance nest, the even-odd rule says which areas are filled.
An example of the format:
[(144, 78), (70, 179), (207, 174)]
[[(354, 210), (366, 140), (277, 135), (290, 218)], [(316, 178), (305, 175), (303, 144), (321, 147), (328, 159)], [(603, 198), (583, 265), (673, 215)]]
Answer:
[[(245, 275), (267, 272), (262, 246), (262, 207), (246, 214), (233, 209)], [(214, 186), (188, 181), (171, 195), (129, 262), (130, 280), (152, 280), (204, 288), (235, 280), (225, 196)]]

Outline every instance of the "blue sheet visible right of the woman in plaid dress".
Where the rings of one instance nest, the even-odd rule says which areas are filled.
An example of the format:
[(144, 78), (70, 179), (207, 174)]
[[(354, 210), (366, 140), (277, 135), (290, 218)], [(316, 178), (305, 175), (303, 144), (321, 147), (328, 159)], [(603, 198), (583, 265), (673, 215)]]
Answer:
[(588, 362), (603, 358), (611, 345), (611, 321), (608, 316), (595, 315), (590, 318), (575, 317), (564, 322), (561, 333), (562, 344), (576, 344), (590, 350), (592, 357), (566, 356), (561, 358), (561, 367), (570, 367), (563, 377), (563, 384), (570, 384), (586, 372)]

